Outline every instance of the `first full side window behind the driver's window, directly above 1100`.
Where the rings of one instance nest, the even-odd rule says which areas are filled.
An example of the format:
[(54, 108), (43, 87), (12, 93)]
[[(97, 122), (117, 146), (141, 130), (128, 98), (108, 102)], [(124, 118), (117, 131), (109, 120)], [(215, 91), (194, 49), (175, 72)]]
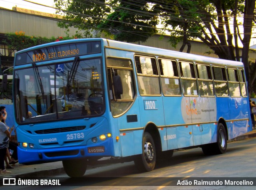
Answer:
[(138, 87), (141, 95), (160, 95), (159, 75), (156, 59), (135, 56), (138, 73)]

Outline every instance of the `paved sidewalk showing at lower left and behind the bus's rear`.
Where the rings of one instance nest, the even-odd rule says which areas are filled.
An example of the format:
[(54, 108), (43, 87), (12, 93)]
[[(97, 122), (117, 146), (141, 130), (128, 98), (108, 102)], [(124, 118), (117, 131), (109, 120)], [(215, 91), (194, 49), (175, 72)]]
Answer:
[[(252, 137), (256, 137), (256, 129), (253, 129), (249, 133), (236, 137), (235, 139), (232, 139), (228, 142), (240, 141), (240, 140), (249, 139)], [(28, 166), (17, 163), (13, 167), (14, 169), (8, 169), (9, 171), (12, 172), (11, 174), (6, 174), (6, 175), (2, 174), (0, 175), (0, 177), (15, 177), (15, 178), (48, 177), (48, 176), (65, 173), (62, 166), (62, 161), (50, 162), (50, 163), (44, 163), (44, 164), (33, 164)]]

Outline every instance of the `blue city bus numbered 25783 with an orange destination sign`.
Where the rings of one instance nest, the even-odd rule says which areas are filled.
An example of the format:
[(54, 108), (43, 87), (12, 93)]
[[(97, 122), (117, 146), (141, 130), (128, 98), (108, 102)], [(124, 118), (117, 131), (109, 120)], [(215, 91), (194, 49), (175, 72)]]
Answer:
[(101, 158), (154, 169), (174, 149), (226, 152), (252, 130), (244, 65), (102, 38), (18, 51), (13, 101), (22, 164)]

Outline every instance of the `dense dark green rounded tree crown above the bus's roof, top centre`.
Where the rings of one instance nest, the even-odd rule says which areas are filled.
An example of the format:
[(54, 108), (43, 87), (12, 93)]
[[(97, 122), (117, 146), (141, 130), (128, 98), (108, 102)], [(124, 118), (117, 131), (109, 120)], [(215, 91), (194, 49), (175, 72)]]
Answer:
[(145, 42), (157, 33), (158, 18), (155, 14), (154, 8), (147, 2), (140, 2), (140, 6), (134, 6), (133, 0), (120, 1), (114, 12), (109, 14), (106, 20), (102, 20), (98, 28), (113, 34), (114, 40)]

